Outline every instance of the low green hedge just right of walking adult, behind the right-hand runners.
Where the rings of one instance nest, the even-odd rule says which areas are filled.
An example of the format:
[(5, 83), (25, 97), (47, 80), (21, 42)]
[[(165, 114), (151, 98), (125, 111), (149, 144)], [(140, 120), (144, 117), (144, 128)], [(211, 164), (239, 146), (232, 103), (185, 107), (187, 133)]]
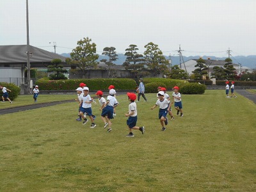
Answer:
[(147, 83), (157, 83), (159, 84), (158, 86), (161, 86), (161, 84), (165, 84), (166, 86), (164, 87), (166, 88), (166, 90), (172, 90), (173, 86), (182, 86), (183, 84), (188, 83), (188, 81), (168, 78), (144, 78), (143, 83), (145, 84), (145, 86), (147, 85)]

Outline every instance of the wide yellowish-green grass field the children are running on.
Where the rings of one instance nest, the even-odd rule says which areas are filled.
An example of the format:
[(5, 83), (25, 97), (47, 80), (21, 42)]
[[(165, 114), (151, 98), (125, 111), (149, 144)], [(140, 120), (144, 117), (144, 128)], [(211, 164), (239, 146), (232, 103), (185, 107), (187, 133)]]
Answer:
[[(60, 99), (39, 95), (38, 102), (53, 97)], [(76, 102), (1, 115), (0, 191), (255, 191), (252, 101), (227, 99), (223, 90), (182, 95), (184, 116), (163, 132), (158, 109), (150, 110), (156, 94), (146, 97), (137, 103), (145, 134), (134, 138), (125, 137), (126, 95), (117, 95), (109, 133), (94, 104), (95, 129), (76, 122)], [(20, 96), (13, 105), (26, 99), (33, 102)]]

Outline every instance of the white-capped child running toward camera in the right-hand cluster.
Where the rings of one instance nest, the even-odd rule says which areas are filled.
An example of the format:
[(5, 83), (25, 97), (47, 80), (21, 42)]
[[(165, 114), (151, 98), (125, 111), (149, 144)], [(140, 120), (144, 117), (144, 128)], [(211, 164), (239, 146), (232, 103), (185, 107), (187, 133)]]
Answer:
[(160, 120), (160, 124), (162, 126), (162, 131), (166, 130), (166, 127), (164, 125), (168, 124), (168, 119), (166, 117), (168, 111), (168, 105), (170, 104), (170, 100), (164, 99), (164, 92), (160, 91), (157, 93), (158, 99), (156, 101), (156, 104), (151, 108), (154, 109), (157, 106), (159, 106), (159, 113), (158, 113), (158, 118)]

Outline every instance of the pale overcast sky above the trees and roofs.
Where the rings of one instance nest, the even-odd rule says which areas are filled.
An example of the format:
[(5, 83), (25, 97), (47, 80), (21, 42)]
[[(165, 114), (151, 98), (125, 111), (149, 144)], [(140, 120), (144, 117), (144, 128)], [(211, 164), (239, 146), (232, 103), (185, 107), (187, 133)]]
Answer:
[[(71, 52), (92, 38), (97, 53), (153, 42), (164, 55), (256, 55), (255, 0), (28, 0), (30, 45)], [(26, 39), (26, 0), (0, 0), (0, 45)], [(51, 42), (51, 44), (49, 44)]]

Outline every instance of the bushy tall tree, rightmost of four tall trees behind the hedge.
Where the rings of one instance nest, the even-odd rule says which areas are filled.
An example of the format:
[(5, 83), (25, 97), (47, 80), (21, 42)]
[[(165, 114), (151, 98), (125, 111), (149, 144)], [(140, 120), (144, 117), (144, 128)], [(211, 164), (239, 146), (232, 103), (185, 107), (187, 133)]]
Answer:
[(158, 48), (158, 45), (152, 42), (144, 46), (146, 51), (144, 52), (145, 60), (148, 69), (153, 71), (153, 76), (157, 76), (163, 72), (167, 72), (168, 60), (164, 58), (163, 52)]

